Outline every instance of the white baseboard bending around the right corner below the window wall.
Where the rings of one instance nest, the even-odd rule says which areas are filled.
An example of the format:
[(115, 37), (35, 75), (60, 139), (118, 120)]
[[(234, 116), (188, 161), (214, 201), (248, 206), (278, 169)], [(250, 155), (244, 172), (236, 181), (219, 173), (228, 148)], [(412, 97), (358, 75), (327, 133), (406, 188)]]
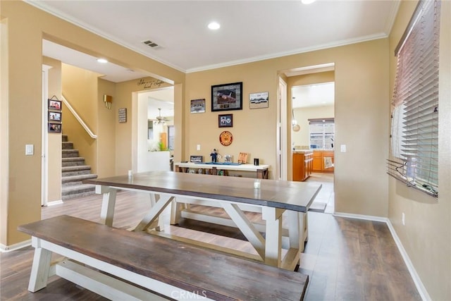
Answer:
[(418, 290), (418, 293), (421, 296), (422, 300), (428, 301), (431, 300), (431, 297), (428, 294), (428, 291), (424, 287), (423, 283), (421, 282), (421, 279), (416, 273), (416, 269), (414, 268), (414, 265), (410, 261), (409, 255), (407, 254), (406, 250), (404, 249), (404, 246), (402, 245), (402, 242), (400, 238), (397, 236), (395, 228), (393, 228), (392, 223), (390, 222), (390, 219), (386, 217), (381, 216), (369, 216), (369, 215), (360, 215), (360, 214), (348, 214), (348, 213), (342, 213), (342, 212), (335, 212), (333, 216), (339, 216), (339, 217), (345, 217), (349, 219), (364, 219), (366, 221), (382, 221), (387, 224), (388, 229), (390, 230), (390, 233), (393, 237), (393, 240), (395, 240), (395, 243), (397, 245), (397, 250), (400, 250), (402, 259), (404, 259), (404, 263), (407, 266), (407, 269), (409, 270), (410, 276), (412, 276), (412, 280), (415, 283), (416, 289)]

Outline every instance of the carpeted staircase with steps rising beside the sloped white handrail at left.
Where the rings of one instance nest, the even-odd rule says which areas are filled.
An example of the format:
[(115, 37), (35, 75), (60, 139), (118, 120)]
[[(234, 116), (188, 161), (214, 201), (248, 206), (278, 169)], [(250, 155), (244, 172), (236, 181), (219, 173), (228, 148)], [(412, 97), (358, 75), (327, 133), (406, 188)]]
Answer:
[(62, 135), (62, 149), (61, 199), (93, 195), (95, 186), (82, 184), (82, 180), (97, 178), (97, 175), (91, 173), (91, 166), (85, 165), (85, 158), (73, 149), (73, 142), (68, 142), (67, 135)]

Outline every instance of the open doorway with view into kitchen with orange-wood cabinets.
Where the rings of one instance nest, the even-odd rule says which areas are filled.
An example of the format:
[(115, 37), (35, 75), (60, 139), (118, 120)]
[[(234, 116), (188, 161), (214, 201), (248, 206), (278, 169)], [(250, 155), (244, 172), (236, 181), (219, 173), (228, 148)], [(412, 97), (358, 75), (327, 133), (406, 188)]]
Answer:
[(311, 211), (333, 214), (334, 204), (334, 142), (335, 142), (335, 82), (321, 82), (291, 87), (293, 152), (309, 150), (311, 174), (307, 182), (321, 183)]

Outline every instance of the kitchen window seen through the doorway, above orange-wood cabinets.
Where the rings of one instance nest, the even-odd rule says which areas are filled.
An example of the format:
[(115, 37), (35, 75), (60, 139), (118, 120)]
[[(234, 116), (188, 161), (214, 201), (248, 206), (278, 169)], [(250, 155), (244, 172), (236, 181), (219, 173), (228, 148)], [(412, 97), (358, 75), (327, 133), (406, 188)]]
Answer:
[(309, 119), (310, 148), (333, 149), (335, 123), (333, 118)]

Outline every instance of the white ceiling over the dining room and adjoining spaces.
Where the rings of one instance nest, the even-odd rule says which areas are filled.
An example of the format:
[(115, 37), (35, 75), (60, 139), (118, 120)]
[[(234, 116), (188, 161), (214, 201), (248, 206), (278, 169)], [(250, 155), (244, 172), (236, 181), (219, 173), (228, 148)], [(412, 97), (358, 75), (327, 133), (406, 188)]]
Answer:
[[(309, 5), (297, 0), (25, 1), (186, 73), (387, 37), (400, 3), (397, 0), (318, 0)], [(206, 27), (212, 20), (221, 24), (219, 30)], [(142, 43), (145, 40), (156, 42), (159, 47), (152, 49)], [(149, 76), (113, 63), (99, 64), (94, 56), (49, 41), (43, 43), (43, 54), (100, 73), (112, 82)], [(305, 66), (300, 64), (298, 69), (302, 72)], [(285, 74), (299, 74), (294, 71)], [(293, 96), (304, 98), (296, 89)]]

